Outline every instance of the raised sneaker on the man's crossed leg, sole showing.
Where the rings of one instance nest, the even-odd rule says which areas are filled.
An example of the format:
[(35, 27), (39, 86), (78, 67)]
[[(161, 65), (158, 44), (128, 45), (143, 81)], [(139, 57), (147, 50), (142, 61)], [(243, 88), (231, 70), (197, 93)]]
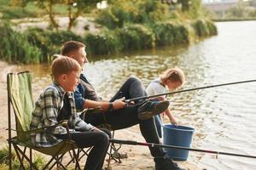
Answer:
[(166, 111), (169, 106), (169, 101), (144, 101), (138, 108), (138, 119), (147, 120), (154, 115), (159, 115)]

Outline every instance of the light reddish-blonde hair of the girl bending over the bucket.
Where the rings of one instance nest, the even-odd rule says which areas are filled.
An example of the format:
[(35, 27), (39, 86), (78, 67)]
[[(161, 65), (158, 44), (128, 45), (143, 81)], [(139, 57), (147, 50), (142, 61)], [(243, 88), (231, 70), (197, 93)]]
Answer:
[(172, 82), (180, 82), (182, 86), (185, 82), (185, 76), (180, 68), (174, 67), (172, 69), (167, 69), (160, 74), (161, 82), (165, 83), (167, 80), (171, 80)]

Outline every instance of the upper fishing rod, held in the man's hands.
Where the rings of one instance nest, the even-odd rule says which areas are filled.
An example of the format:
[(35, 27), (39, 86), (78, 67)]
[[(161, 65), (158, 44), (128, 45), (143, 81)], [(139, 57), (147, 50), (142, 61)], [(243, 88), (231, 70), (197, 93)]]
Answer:
[(168, 93), (165, 93), (165, 94), (155, 94), (155, 95), (150, 95), (150, 96), (137, 97), (137, 98), (133, 98), (133, 99), (125, 99), (125, 102), (129, 103), (129, 102), (135, 101), (137, 99), (149, 99), (149, 98), (155, 98), (155, 97), (164, 96), (164, 95), (168, 95), (168, 94), (179, 94), (179, 93), (183, 93), (183, 92), (200, 90), (200, 89), (204, 89), (204, 88), (216, 88), (216, 87), (220, 87), (220, 86), (228, 86), (228, 85), (240, 84), (240, 83), (246, 83), (246, 82), (256, 82), (256, 80), (247, 80), (247, 81), (241, 81), (241, 82), (229, 82), (229, 83), (224, 83), (224, 84), (216, 84), (216, 85), (211, 85), (211, 86), (205, 86), (205, 87), (201, 87), (201, 88), (189, 88), (189, 89), (179, 90), (179, 91), (176, 91), (176, 92), (168, 92)]

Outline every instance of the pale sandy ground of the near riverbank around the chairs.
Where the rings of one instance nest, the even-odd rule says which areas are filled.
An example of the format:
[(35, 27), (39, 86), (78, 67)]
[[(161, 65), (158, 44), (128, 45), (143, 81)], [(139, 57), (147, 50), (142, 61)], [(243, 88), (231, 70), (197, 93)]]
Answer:
[[(8, 139), (8, 118), (7, 118), (7, 90), (6, 90), (6, 75), (8, 72), (13, 71), (15, 65), (9, 65), (3, 61), (0, 61), (0, 103), (1, 112), (0, 117), (3, 117), (2, 123), (0, 124), (0, 143), (7, 144), (6, 139)], [(135, 139), (137, 141), (144, 141), (142, 135), (139, 132), (139, 127), (134, 126), (119, 130), (115, 132), (115, 139)], [(0, 146), (0, 147), (1, 147)], [(144, 146), (133, 146), (133, 145), (123, 145), (120, 152), (127, 153), (128, 158), (123, 159), (121, 163), (111, 161), (111, 169), (113, 170), (130, 170), (131, 167), (134, 170), (140, 169), (154, 169), (154, 161), (150, 156), (149, 150)], [(185, 161), (178, 162), (181, 167), (188, 170), (198, 170), (202, 169), (198, 167), (194, 162)], [(107, 161), (105, 167), (107, 166)]]

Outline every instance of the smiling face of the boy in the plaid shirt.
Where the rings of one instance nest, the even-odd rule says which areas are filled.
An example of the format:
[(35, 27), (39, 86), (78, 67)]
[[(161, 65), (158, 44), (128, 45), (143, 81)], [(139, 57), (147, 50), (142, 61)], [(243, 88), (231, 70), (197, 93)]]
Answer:
[(79, 82), (80, 71), (72, 71), (68, 74), (62, 74), (59, 80), (61, 87), (66, 92), (74, 92)]

